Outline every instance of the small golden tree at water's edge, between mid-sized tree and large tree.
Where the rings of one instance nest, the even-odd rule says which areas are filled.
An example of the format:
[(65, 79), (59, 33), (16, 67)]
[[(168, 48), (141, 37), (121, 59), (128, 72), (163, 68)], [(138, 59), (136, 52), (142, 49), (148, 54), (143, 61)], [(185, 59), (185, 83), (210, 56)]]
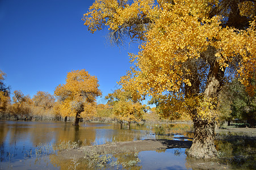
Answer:
[(122, 124), (127, 121), (130, 127), (132, 121), (140, 121), (145, 107), (132, 98), (131, 91), (117, 89), (112, 94), (108, 94), (105, 99), (113, 106), (112, 112)]

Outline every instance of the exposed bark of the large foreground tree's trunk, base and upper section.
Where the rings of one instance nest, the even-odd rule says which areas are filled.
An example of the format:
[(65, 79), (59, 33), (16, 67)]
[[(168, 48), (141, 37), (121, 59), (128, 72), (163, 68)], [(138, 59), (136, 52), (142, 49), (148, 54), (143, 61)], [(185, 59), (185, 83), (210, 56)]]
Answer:
[[(214, 50), (214, 49), (213, 49)], [(215, 61), (211, 61), (208, 74), (207, 86), (204, 90), (204, 97), (209, 100), (216, 99), (221, 86), (223, 86), (225, 69), (220, 70), (220, 65), (217, 59), (213, 57)], [(194, 94), (193, 91), (189, 91)], [(213, 105), (216, 105), (213, 104)], [(209, 120), (202, 120), (197, 115), (196, 109), (192, 110), (191, 115), (194, 117), (194, 139), (192, 146), (187, 150), (187, 155), (196, 159), (213, 158), (217, 155), (217, 150), (214, 145), (215, 137), (215, 115), (208, 114)]]

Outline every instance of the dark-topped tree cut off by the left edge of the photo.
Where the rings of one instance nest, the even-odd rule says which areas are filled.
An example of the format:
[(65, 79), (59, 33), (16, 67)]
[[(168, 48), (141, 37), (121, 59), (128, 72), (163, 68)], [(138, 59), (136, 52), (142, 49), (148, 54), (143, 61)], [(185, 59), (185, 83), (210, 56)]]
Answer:
[(0, 70), (0, 113), (5, 112), (7, 104), (10, 103), (10, 88), (3, 82), (5, 76), (6, 74)]

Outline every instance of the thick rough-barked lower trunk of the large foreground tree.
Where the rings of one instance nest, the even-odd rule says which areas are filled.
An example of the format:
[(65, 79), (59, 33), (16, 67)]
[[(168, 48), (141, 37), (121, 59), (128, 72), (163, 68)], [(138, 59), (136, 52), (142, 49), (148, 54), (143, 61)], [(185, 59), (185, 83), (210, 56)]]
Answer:
[(213, 158), (217, 155), (214, 145), (215, 122), (196, 118), (194, 122), (194, 139), (186, 154), (196, 159)]

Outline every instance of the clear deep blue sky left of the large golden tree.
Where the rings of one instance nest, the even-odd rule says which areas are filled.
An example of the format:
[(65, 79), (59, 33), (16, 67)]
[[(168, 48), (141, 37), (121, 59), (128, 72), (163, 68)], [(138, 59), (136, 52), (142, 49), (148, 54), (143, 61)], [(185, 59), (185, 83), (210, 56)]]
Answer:
[(0, 0), (0, 69), (11, 92), (53, 95), (68, 72), (81, 69), (98, 78), (103, 97), (116, 89), (139, 44), (119, 48), (108, 43), (107, 29), (87, 31), (81, 18), (93, 2)]

